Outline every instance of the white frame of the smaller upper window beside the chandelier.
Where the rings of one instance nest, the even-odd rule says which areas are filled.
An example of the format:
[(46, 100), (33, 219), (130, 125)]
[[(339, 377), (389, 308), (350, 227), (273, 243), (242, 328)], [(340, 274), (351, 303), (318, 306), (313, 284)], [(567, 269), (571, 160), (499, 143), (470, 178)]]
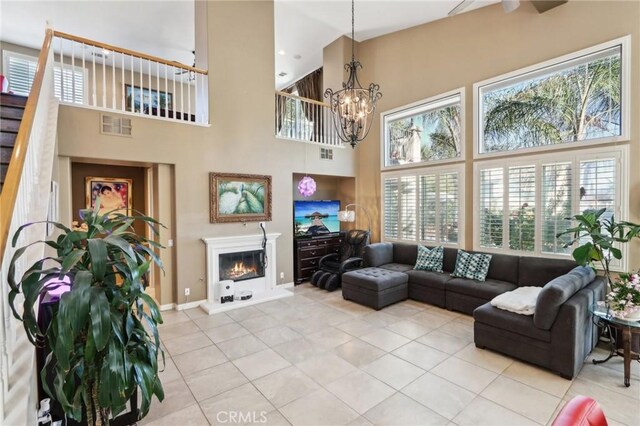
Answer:
[[(412, 115), (419, 114), (424, 111), (438, 109), (449, 104), (450, 99), (460, 97), (460, 156), (456, 158), (446, 158), (442, 160), (422, 161), (419, 163), (397, 164), (392, 166), (385, 165), (387, 158), (387, 131), (386, 127), (389, 121), (397, 120)], [(425, 166), (437, 166), (441, 164), (459, 163), (465, 161), (465, 88), (460, 87), (449, 92), (441, 93), (430, 98), (422, 99), (408, 105), (403, 105), (388, 111), (380, 113), (380, 169), (381, 170), (398, 170), (410, 169)]]

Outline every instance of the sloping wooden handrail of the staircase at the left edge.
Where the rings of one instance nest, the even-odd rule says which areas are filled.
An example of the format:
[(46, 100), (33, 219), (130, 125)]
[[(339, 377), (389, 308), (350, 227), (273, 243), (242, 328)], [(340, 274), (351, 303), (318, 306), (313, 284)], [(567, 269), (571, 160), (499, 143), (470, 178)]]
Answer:
[(29, 148), (31, 129), (36, 115), (38, 98), (40, 97), (40, 91), (42, 90), (44, 71), (47, 68), (47, 59), (49, 57), (52, 40), (53, 30), (47, 29), (44, 42), (42, 43), (42, 49), (40, 49), (40, 55), (38, 55), (36, 74), (33, 78), (31, 91), (27, 98), (24, 114), (22, 115), (22, 121), (20, 122), (18, 134), (16, 135), (15, 144), (13, 146), (13, 153), (9, 160), (7, 175), (5, 176), (5, 181), (2, 185), (2, 192), (0, 193), (0, 260), (4, 256), (4, 251), (9, 238), (9, 227), (11, 226), (13, 209), (18, 198), (20, 178), (22, 176), (22, 169), (24, 168), (24, 162), (27, 157), (27, 148)]

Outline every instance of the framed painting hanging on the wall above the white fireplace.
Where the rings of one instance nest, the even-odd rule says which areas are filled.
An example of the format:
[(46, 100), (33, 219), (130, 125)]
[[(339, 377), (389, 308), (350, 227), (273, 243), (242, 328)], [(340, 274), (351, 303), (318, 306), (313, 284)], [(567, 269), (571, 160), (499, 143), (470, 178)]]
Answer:
[(210, 222), (271, 220), (271, 176), (209, 173)]

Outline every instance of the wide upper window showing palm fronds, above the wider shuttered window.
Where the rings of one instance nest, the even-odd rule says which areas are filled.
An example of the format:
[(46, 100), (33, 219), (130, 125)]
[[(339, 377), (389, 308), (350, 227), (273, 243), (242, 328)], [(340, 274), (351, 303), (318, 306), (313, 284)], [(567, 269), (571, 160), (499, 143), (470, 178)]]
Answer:
[(615, 40), (475, 84), (475, 154), (622, 138), (627, 45)]

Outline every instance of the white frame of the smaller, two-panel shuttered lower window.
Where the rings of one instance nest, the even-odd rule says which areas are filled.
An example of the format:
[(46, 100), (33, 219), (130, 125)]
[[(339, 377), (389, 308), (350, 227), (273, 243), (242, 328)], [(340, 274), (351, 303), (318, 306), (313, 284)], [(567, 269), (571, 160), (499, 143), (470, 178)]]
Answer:
[(420, 243), (423, 245), (429, 246), (439, 246), (443, 247), (453, 247), (453, 248), (464, 248), (465, 247), (465, 165), (463, 163), (459, 164), (446, 164), (440, 166), (430, 166), (430, 167), (420, 167), (413, 168), (411, 170), (396, 170), (392, 172), (385, 172), (380, 174), (380, 190), (384, 192), (384, 180), (387, 178), (401, 178), (404, 176), (415, 176), (416, 177), (416, 212), (415, 217), (416, 221), (419, 220), (420, 217), (420, 183), (419, 177), (425, 174), (445, 174), (445, 173), (458, 173), (458, 242), (457, 243), (442, 243), (439, 241), (422, 241), (420, 240), (420, 228), (419, 223), (416, 224), (416, 238), (413, 240), (402, 239), (402, 238), (387, 238), (384, 234), (384, 224), (385, 224), (385, 208), (384, 208), (384, 194), (380, 196), (380, 239), (385, 242), (413, 242)]

